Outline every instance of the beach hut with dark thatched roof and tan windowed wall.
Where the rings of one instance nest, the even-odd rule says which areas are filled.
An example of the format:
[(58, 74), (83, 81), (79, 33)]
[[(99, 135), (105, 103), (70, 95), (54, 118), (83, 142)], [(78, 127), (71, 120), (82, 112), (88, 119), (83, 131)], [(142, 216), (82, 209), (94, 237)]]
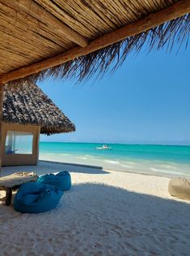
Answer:
[(2, 165), (36, 164), (39, 136), (73, 132), (74, 124), (37, 86), (5, 86), (2, 116)]

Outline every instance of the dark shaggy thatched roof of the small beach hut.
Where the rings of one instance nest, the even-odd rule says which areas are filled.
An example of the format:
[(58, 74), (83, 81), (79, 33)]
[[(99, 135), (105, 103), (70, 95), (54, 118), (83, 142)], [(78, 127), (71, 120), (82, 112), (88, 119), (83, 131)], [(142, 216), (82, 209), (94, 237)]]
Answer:
[(5, 86), (2, 121), (40, 125), (40, 133), (47, 135), (75, 131), (74, 124), (52, 100), (37, 85), (27, 82), (17, 89)]

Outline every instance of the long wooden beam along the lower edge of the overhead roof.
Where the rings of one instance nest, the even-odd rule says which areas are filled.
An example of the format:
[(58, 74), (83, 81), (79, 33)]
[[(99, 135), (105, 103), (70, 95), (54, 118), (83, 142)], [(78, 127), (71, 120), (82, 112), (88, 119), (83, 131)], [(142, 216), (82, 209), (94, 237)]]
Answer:
[(95, 50), (100, 50), (103, 47), (112, 45), (113, 43), (121, 41), (126, 37), (134, 36), (150, 28), (157, 27), (158, 25), (163, 24), (169, 20), (174, 20), (175, 18), (183, 16), (189, 12), (190, 0), (181, 0), (179, 2), (175, 2), (170, 7), (163, 9), (163, 11), (158, 11), (156, 13), (148, 15), (141, 20), (137, 20), (133, 24), (126, 25), (123, 28), (120, 28), (112, 33), (107, 33), (102, 37), (91, 41), (91, 43), (84, 48), (74, 47), (73, 49), (68, 50), (63, 54), (59, 54), (49, 59), (45, 59), (44, 61), (29, 65), (27, 67), (22, 67), (13, 72), (2, 74), (0, 76), (0, 82), (6, 83), (11, 80), (16, 80), (24, 76), (32, 75), (49, 67), (55, 67), (62, 63), (66, 63), (82, 55), (87, 55)]

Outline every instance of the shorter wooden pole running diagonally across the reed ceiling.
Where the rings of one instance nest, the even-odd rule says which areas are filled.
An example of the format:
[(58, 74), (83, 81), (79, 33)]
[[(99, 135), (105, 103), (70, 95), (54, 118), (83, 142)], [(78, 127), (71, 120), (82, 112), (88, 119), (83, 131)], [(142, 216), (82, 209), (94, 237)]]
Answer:
[[(31, 0), (3, 0), (3, 3), (7, 6), (14, 7), (16, 10), (25, 11), (28, 15), (40, 20), (53, 30), (53, 33), (57, 33), (62, 38), (66, 38), (70, 41), (73, 41), (78, 46), (87, 46), (88, 41), (85, 37), (82, 37), (79, 33), (74, 31), (72, 28), (63, 24), (60, 20), (57, 20), (55, 16), (49, 13), (49, 11), (44, 10), (34, 1)], [(27, 22), (27, 21), (26, 21)]]

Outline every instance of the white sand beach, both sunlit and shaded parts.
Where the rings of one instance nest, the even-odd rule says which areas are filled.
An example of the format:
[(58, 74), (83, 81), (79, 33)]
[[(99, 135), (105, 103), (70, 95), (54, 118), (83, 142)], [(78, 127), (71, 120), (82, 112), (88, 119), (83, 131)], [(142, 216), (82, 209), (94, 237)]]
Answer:
[(168, 194), (169, 178), (50, 163), (3, 175), (65, 170), (73, 187), (54, 210), (20, 214), (0, 202), (0, 255), (190, 255), (190, 202)]

